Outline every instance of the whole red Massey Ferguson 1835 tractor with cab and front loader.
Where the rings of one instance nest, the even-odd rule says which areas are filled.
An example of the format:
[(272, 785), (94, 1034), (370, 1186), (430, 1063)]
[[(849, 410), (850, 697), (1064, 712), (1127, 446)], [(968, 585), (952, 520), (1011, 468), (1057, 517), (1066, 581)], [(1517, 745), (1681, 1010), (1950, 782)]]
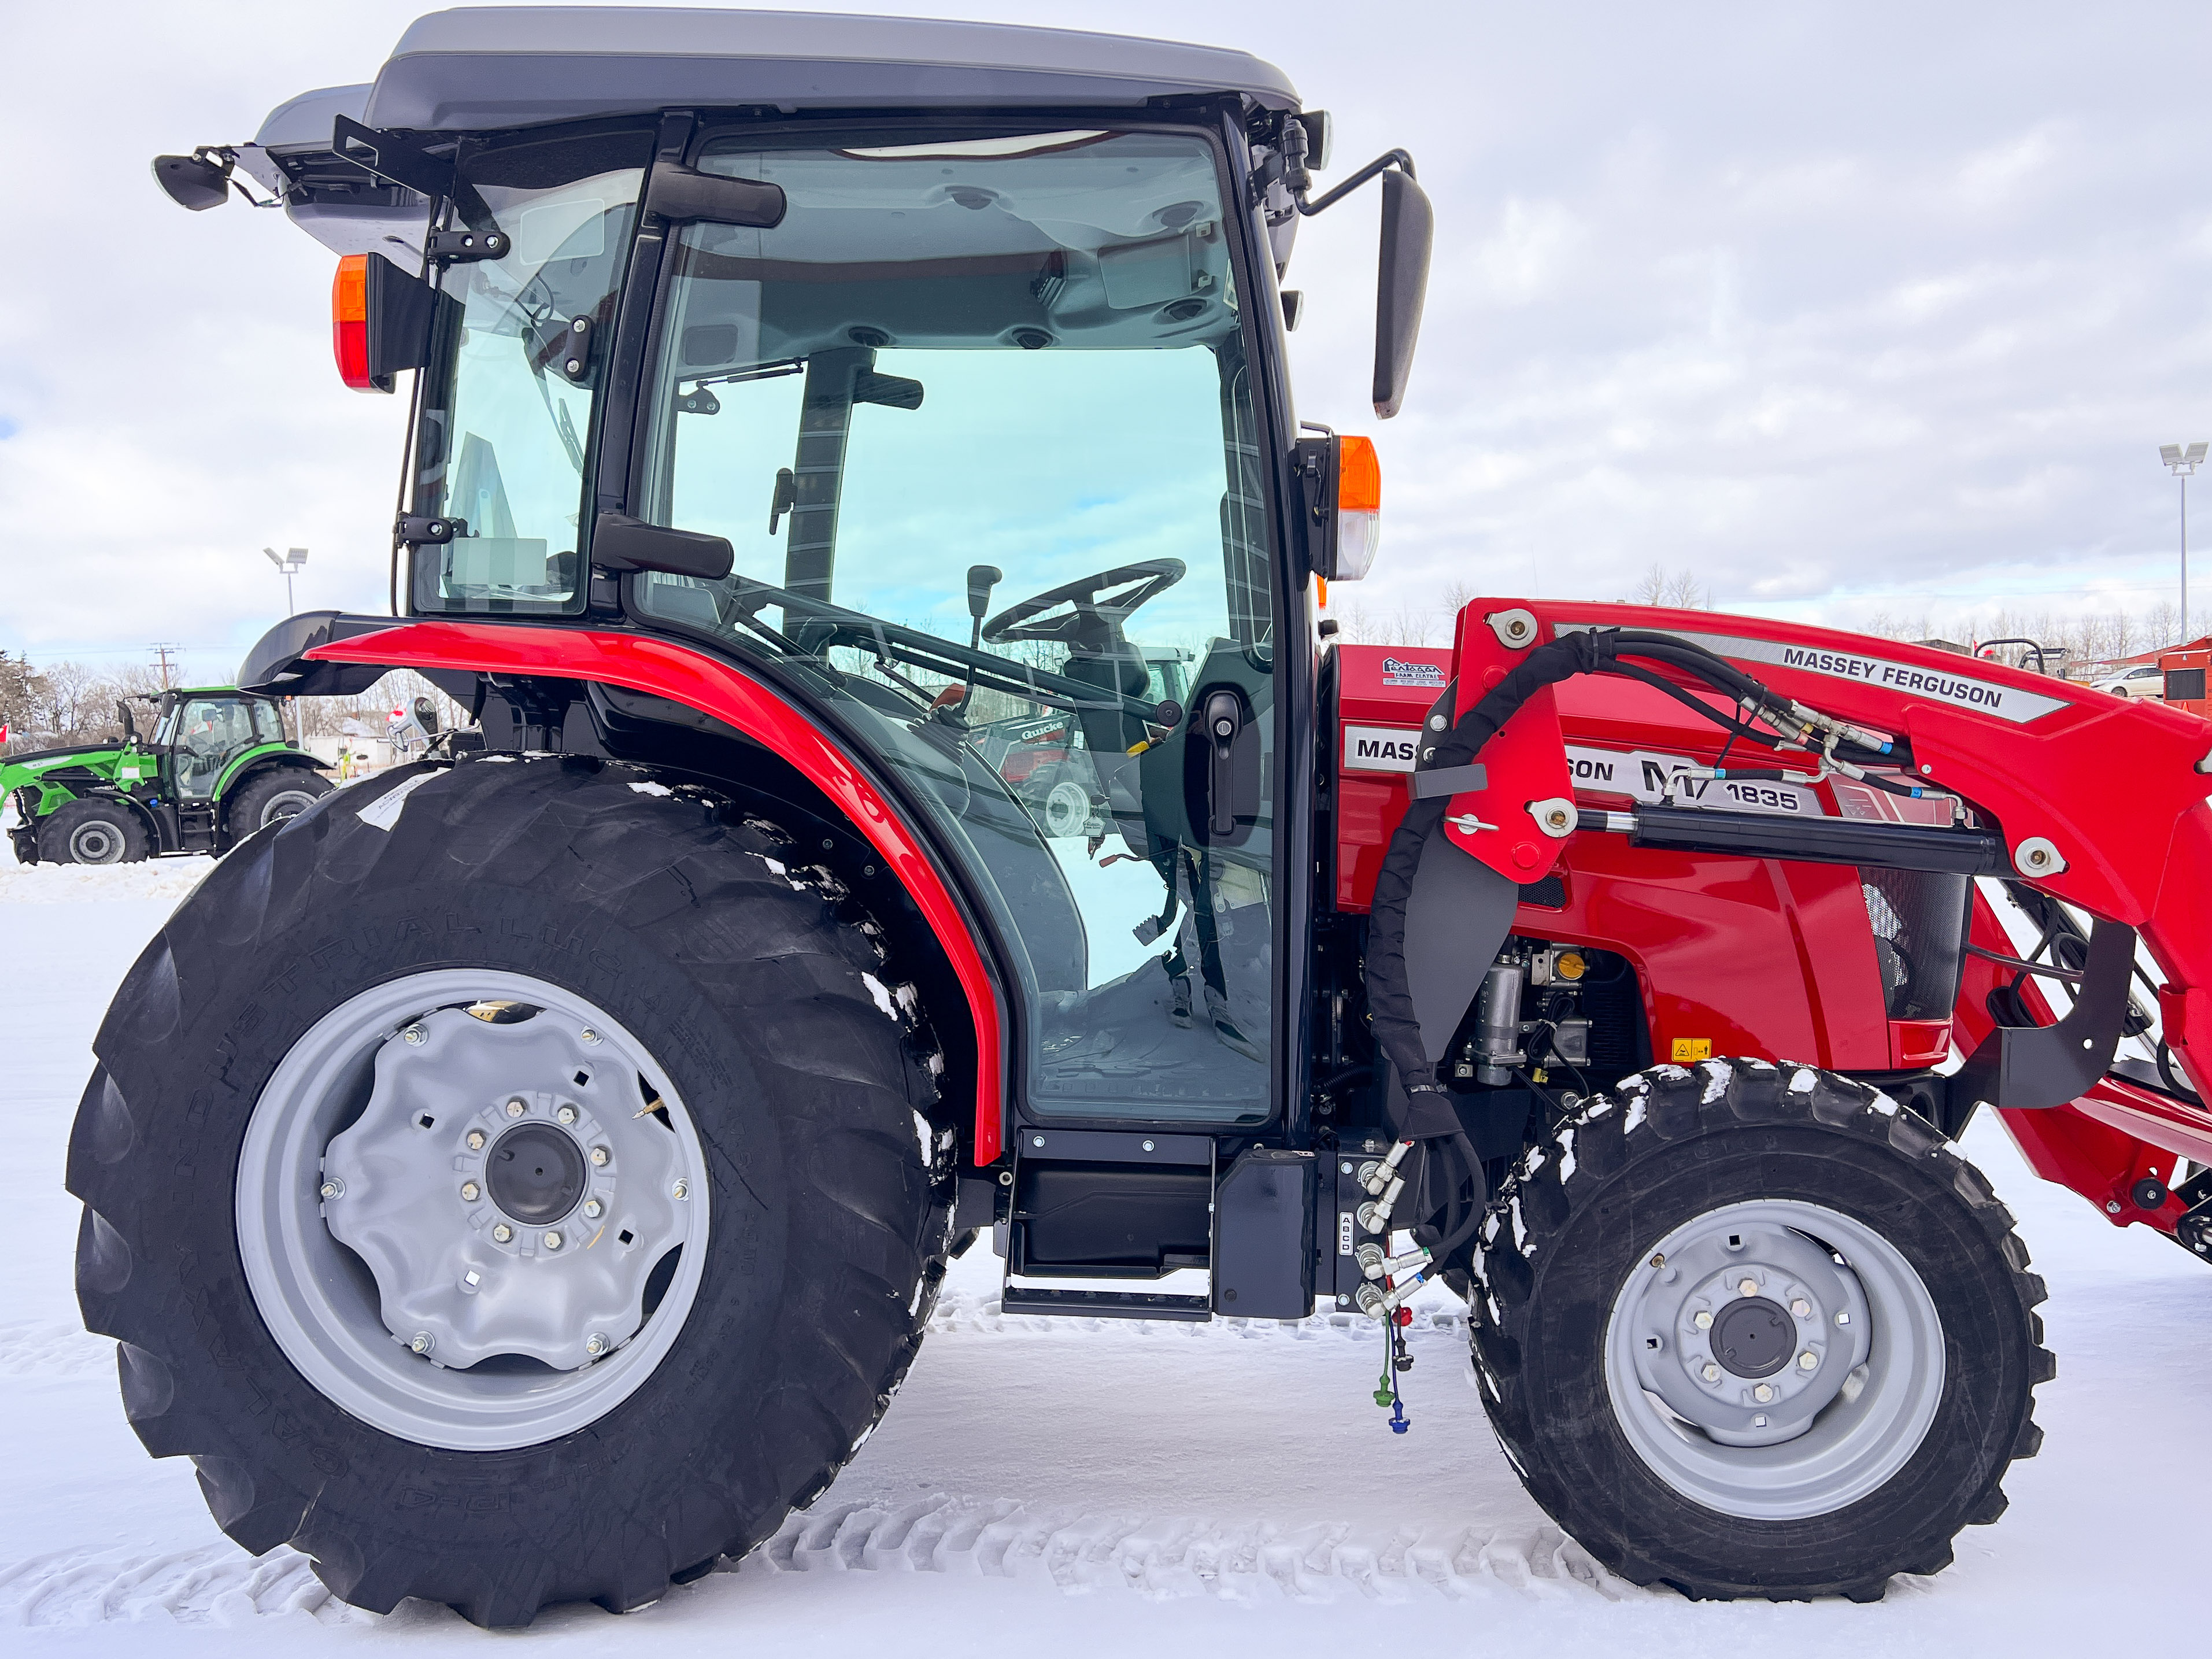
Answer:
[(2053, 1358), (1949, 1141), (2208, 1248), (2212, 723), (1708, 613), (1334, 646), (1378, 467), (1279, 281), (1378, 184), (1389, 416), (1431, 221), (1327, 150), (1232, 51), (580, 7), (157, 161), (411, 376), (394, 615), (243, 684), (482, 732), (246, 841), (100, 1033), (84, 1316), (230, 1537), (639, 1606), (821, 1495), (984, 1237), (1006, 1310), (1318, 1305), (1391, 1376), (1449, 1283), (1639, 1584), (1997, 1517)]

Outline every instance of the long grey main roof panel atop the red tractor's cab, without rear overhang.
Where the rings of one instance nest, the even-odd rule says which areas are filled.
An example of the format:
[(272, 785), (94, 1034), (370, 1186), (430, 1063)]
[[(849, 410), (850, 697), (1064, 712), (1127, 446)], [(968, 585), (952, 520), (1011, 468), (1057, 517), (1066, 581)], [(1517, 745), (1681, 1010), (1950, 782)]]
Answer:
[(717, 104), (1113, 106), (1219, 91), (1298, 106), (1290, 77), (1250, 53), (1133, 35), (807, 11), (456, 7), (400, 35), (363, 119), (458, 133)]

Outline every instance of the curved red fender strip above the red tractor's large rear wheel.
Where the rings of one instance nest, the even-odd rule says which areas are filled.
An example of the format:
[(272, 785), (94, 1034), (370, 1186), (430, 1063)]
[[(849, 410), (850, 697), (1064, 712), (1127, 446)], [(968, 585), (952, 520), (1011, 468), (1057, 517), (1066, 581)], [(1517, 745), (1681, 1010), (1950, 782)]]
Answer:
[(712, 714), (772, 748), (845, 810), (869, 845), (905, 883), (967, 993), (975, 1022), (975, 1161), (998, 1159), (1004, 1139), (1004, 1040), (998, 991), (967, 916), (920, 838), (860, 774), (852, 757), (761, 681), (701, 650), (630, 633), (526, 628), (513, 624), (405, 622), (307, 653), (314, 661), (460, 668), (502, 675), (557, 675), (668, 697)]

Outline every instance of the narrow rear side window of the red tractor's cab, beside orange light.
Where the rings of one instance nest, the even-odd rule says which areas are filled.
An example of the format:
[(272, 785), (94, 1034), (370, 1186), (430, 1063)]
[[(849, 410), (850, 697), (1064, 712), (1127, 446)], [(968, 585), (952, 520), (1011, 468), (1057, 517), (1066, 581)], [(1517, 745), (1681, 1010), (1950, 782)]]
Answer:
[(460, 168), (456, 221), (511, 246), (440, 281), (414, 511), (458, 533), (416, 551), (416, 611), (564, 611), (577, 597), (584, 465), (644, 159), (644, 135), (613, 135)]

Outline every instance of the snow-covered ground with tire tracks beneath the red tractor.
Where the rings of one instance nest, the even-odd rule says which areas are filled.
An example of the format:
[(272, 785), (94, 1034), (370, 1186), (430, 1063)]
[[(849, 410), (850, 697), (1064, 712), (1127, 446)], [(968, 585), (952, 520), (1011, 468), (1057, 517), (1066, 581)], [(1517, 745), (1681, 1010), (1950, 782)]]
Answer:
[[(445, 1608), (376, 1619), (303, 1557), (254, 1562), (184, 1460), (124, 1425), (111, 1345), (77, 1327), (62, 1155), (108, 993), (208, 869), (0, 865), (0, 1148), (15, 1250), (0, 1303), (0, 1624), (11, 1652), (482, 1652)], [(1880, 1606), (1692, 1606), (1604, 1573), (1522, 1495), (1467, 1383), (1455, 1303), (1427, 1305), (1413, 1431), (1369, 1400), (1367, 1321), (1150, 1325), (1002, 1316), (995, 1259), (956, 1265), (929, 1343), (843, 1480), (743, 1564), (626, 1619), (560, 1608), (535, 1648), (595, 1655), (1619, 1650), (2084, 1652), (2183, 1635), (2212, 1531), (2212, 1272), (2037, 1183), (2004, 1133), (1969, 1155), (2051, 1279), (2059, 1378), (2011, 1513)], [(2183, 1635), (2185, 1639), (2185, 1635)], [(511, 1637), (507, 1641), (513, 1641)], [(18, 1646), (20, 1644), (20, 1646)]]

